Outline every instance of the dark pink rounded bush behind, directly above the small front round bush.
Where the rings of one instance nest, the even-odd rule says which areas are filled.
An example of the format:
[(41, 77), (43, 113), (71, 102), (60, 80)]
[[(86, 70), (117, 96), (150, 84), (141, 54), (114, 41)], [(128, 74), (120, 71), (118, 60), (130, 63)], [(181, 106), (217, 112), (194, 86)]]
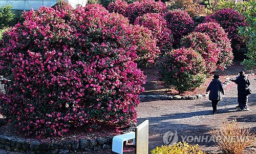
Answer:
[(180, 48), (180, 39), (195, 28), (194, 20), (182, 10), (168, 11), (165, 15), (167, 27), (173, 32), (175, 49)]

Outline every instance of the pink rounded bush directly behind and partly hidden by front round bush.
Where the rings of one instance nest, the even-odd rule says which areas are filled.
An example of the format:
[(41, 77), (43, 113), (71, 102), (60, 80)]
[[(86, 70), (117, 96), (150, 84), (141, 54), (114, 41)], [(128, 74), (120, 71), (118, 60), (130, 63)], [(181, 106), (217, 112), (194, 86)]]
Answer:
[(205, 33), (192, 32), (181, 39), (181, 47), (192, 48), (202, 55), (206, 65), (206, 72), (211, 73), (217, 68), (220, 50)]

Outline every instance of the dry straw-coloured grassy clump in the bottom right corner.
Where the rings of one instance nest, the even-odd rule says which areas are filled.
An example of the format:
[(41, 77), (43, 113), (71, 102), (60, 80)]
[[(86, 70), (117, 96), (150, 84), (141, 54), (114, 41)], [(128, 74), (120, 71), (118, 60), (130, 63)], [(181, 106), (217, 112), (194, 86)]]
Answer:
[(255, 133), (250, 133), (250, 130), (234, 120), (224, 122), (220, 129), (212, 129), (209, 133), (224, 153), (240, 154), (256, 141)]

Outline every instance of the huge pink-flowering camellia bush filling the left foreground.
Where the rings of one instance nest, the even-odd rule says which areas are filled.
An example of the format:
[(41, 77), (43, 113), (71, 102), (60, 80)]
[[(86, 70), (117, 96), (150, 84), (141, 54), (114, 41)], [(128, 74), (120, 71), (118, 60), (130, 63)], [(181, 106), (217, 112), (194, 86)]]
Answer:
[(122, 15), (99, 9), (42, 7), (4, 33), (0, 73), (11, 81), (0, 113), (26, 135), (136, 120), (145, 80), (134, 62), (138, 36)]

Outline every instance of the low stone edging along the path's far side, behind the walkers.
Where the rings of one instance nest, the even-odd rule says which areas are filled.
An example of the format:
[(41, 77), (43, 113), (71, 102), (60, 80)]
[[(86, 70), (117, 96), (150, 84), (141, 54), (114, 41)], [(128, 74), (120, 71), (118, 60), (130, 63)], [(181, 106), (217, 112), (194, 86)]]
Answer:
[[(247, 76), (255, 75), (247, 74)], [(228, 84), (230, 84), (231, 81), (229, 79), (226, 79), (225, 82), (223, 82), (224, 87)], [(140, 99), (152, 99), (152, 100), (195, 100), (195, 99), (202, 99), (209, 96), (209, 93), (206, 94), (197, 94), (197, 95), (191, 95), (191, 96), (180, 96), (180, 95), (139, 95)]]

